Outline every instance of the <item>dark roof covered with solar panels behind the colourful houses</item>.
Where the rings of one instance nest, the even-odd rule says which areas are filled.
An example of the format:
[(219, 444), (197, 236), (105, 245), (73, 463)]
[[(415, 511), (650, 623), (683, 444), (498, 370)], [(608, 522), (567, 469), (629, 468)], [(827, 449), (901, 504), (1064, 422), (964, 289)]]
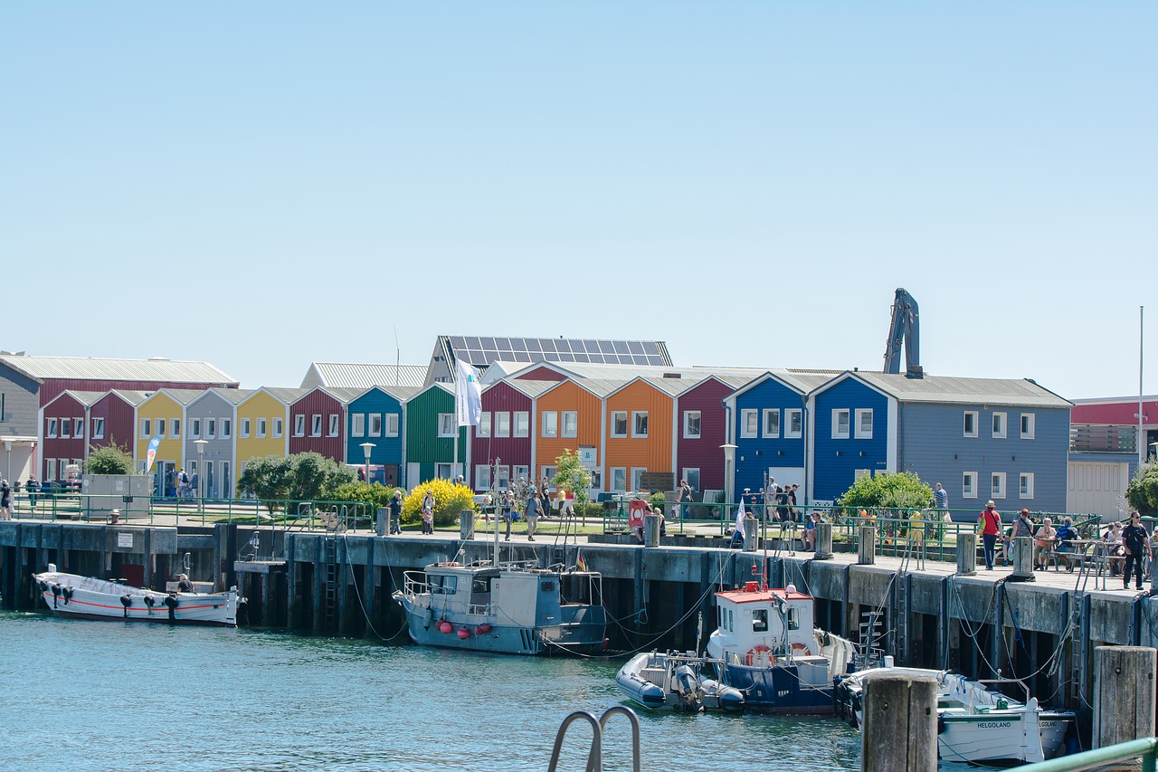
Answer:
[(476, 367), (494, 362), (574, 362), (669, 366), (672, 356), (662, 341), (610, 341), (565, 337), (489, 337), (440, 335), (439, 344), (453, 357)]

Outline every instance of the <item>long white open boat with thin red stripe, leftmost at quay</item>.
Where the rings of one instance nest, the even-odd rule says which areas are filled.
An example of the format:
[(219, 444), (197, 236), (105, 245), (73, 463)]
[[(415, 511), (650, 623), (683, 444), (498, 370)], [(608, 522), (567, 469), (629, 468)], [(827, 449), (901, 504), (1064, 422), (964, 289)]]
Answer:
[(159, 592), (119, 582), (63, 574), (34, 574), (52, 613), (80, 619), (237, 626), (237, 588), (227, 592)]

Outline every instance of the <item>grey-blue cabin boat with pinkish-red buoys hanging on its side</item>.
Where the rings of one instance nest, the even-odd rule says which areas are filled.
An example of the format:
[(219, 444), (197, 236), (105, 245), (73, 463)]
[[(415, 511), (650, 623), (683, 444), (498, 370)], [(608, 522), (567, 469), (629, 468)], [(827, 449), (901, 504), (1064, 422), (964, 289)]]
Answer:
[(534, 562), (431, 563), (394, 592), (422, 646), (500, 654), (596, 654), (607, 612), (596, 571)]

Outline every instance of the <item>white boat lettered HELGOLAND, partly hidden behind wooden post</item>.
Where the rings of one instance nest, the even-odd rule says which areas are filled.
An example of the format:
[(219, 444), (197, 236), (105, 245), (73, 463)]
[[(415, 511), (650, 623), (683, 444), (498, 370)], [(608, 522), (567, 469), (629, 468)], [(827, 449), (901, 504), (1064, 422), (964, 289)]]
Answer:
[[(1073, 712), (1042, 708), (1036, 698), (1029, 697), (1028, 687), (1013, 678), (970, 680), (946, 670), (872, 668), (840, 679), (837, 714), (859, 728), (864, 719), (864, 682), (886, 672), (937, 680), (937, 755), (946, 762), (1028, 764), (1067, 753)], [(1023, 690), (1025, 701), (997, 691), (1001, 685)]]

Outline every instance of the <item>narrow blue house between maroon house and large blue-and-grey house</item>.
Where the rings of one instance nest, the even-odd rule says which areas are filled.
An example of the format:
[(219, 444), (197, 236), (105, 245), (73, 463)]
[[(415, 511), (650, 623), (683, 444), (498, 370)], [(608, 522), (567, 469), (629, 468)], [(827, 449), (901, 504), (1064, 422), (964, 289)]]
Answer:
[(767, 476), (805, 487), (806, 396), (831, 377), (770, 370), (724, 398), (728, 440), (736, 446), (734, 495), (760, 490)]

